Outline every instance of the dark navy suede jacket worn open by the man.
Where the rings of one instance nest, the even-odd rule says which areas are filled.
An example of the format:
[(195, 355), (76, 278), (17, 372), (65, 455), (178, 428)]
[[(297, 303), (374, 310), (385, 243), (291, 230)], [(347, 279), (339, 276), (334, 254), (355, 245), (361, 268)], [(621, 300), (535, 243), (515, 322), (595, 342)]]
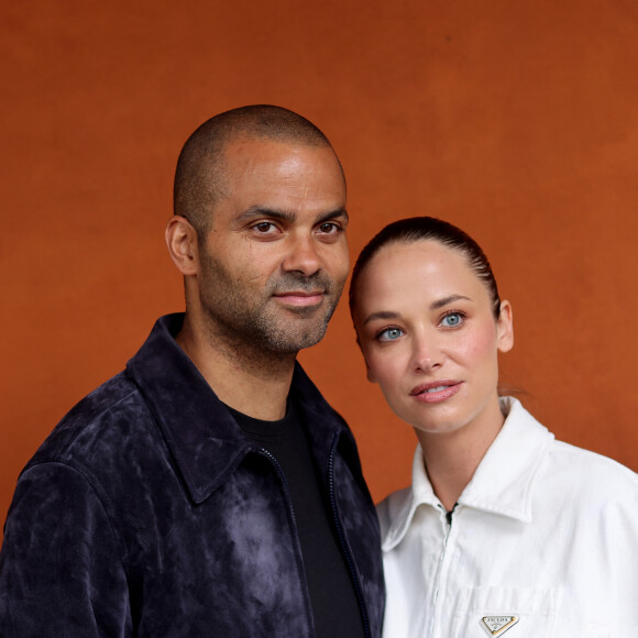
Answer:
[[(314, 635), (285, 480), (176, 344), (182, 320), (160, 319), (22, 472), (0, 558), (3, 638)], [(290, 392), (378, 637), (378, 524), (352, 435), (300, 366)]]

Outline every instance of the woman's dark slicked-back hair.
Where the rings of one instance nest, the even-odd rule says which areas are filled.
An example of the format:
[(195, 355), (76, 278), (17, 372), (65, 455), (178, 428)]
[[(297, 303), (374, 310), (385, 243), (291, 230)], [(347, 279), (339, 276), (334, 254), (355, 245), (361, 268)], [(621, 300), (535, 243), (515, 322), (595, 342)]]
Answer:
[(459, 251), (468, 261), (468, 265), (474, 274), (483, 282), (487, 288), (492, 300), (492, 311), (498, 319), (501, 316), (501, 297), (498, 296), (498, 286), (492, 273), (490, 262), (481, 246), (460, 228), (435, 219), (433, 217), (410, 217), (400, 219), (387, 224), (375, 237), (370, 240), (367, 245), (361, 251), (354, 268), (352, 279), (350, 280), (350, 314), (354, 317), (354, 307), (356, 305), (356, 286), (361, 273), (374, 257), (374, 255), (385, 245), (392, 243), (411, 244), (420, 241), (435, 241), (452, 250)]

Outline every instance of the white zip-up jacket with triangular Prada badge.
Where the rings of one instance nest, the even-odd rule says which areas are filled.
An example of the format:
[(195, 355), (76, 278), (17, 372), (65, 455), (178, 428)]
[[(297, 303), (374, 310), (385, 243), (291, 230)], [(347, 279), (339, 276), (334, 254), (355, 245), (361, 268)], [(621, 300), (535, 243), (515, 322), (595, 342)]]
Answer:
[(413, 486), (378, 505), (384, 638), (638, 638), (638, 475), (501, 407), (451, 517), (420, 447)]

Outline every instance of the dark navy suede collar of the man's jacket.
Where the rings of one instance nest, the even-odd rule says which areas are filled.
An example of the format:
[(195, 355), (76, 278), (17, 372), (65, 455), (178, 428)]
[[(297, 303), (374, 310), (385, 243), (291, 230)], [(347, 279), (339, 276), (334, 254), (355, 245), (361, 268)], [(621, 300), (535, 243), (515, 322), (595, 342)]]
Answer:
[[(190, 497), (202, 503), (255, 448), (175, 341), (183, 321), (183, 314), (160, 318), (127, 364), (127, 373), (162, 430)], [(326, 441), (336, 432), (349, 433), (348, 426), (328, 406), (299, 364), (295, 366), (290, 393), (308, 424), (317, 457), (321, 455), (318, 449), (321, 441), (328, 448)]]

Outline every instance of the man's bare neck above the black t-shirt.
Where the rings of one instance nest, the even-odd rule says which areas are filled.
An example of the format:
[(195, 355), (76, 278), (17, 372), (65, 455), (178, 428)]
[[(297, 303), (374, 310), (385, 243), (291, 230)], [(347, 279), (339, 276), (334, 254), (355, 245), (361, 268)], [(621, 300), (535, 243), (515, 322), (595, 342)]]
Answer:
[(250, 417), (277, 420), (286, 414), (286, 399), (295, 354), (271, 353), (209, 339), (185, 318), (175, 338), (215, 394)]

